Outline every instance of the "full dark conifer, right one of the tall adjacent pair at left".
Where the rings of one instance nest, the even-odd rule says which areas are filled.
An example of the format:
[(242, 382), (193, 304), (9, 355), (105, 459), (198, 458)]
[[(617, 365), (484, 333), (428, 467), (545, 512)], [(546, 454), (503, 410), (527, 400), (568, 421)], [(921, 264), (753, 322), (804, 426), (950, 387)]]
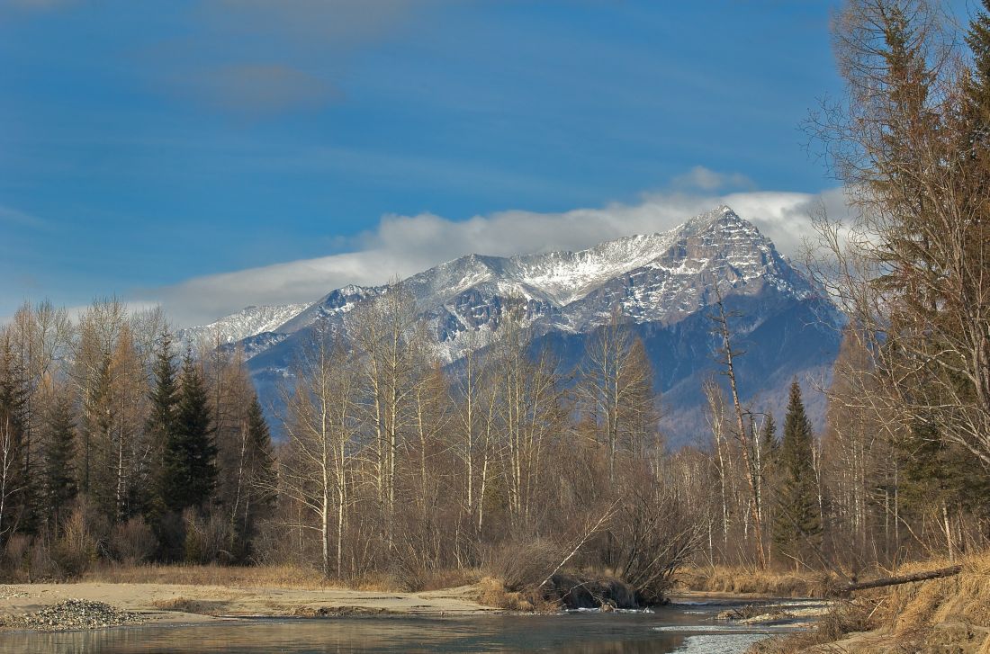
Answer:
[(161, 505), (173, 512), (203, 508), (217, 481), (217, 446), (206, 385), (191, 352), (182, 361), (173, 428), (166, 432), (161, 460)]

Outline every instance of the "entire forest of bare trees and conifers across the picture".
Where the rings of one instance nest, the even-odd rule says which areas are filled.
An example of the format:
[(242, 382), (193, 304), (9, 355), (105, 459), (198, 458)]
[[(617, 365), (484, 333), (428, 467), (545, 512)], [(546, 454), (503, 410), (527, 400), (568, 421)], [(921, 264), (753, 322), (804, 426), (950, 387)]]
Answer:
[[(219, 334), (183, 347), (158, 310), (26, 303), (0, 330), (3, 576), (284, 564), (419, 590), (482, 571), (539, 595), (570, 571), (649, 603), (684, 566), (854, 579), (986, 551), (988, 9), (963, 27), (920, 1), (837, 14), (846, 92), (804, 127), (854, 219), (823, 211), (805, 268), (846, 326), (831, 382), (795, 379), (785, 415), (740, 401), (721, 300), (709, 429), (676, 451), (621, 308), (574, 369), (512, 306), (445, 366), (396, 283), (316, 330), (269, 425)], [(809, 393), (829, 402), (818, 431)]]

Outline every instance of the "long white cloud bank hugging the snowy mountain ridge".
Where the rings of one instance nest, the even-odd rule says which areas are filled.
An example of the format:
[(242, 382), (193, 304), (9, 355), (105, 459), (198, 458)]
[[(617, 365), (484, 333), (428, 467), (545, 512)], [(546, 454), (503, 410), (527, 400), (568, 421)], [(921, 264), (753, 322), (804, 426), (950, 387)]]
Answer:
[(823, 204), (844, 213), (841, 190), (823, 194), (661, 192), (637, 204), (564, 213), (505, 211), (451, 221), (433, 214), (385, 216), (341, 254), (197, 277), (148, 293), (179, 326), (208, 323), (247, 305), (312, 302), (347, 284), (381, 284), (468, 253), (512, 255), (581, 249), (611, 238), (669, 230), (719, 204), (733, 207), (785, 255), (810, 234)]

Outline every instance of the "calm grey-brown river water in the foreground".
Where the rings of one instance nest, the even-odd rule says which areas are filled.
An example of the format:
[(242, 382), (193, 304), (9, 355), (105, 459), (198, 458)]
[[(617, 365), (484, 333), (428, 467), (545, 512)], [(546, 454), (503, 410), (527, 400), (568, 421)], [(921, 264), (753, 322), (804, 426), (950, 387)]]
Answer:
[(575, 652), (736, 654), (788, 627), (734, 627), (715, 619), (739, 602), (681, 603), (652, 612), (554, 615), (250, 618), (190, 625), (0, 634), (0, 652)]

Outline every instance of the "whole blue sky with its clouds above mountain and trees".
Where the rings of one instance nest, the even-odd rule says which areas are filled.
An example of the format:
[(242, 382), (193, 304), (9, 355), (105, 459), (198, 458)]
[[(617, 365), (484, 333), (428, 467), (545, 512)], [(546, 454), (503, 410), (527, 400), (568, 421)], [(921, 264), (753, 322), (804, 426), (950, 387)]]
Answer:
[(729, 193), (793, 207), (836, 186), (798, 130), (841, 89), (835, 7), (0, 0), (0, 316), (117, 294), (201, 322)]

